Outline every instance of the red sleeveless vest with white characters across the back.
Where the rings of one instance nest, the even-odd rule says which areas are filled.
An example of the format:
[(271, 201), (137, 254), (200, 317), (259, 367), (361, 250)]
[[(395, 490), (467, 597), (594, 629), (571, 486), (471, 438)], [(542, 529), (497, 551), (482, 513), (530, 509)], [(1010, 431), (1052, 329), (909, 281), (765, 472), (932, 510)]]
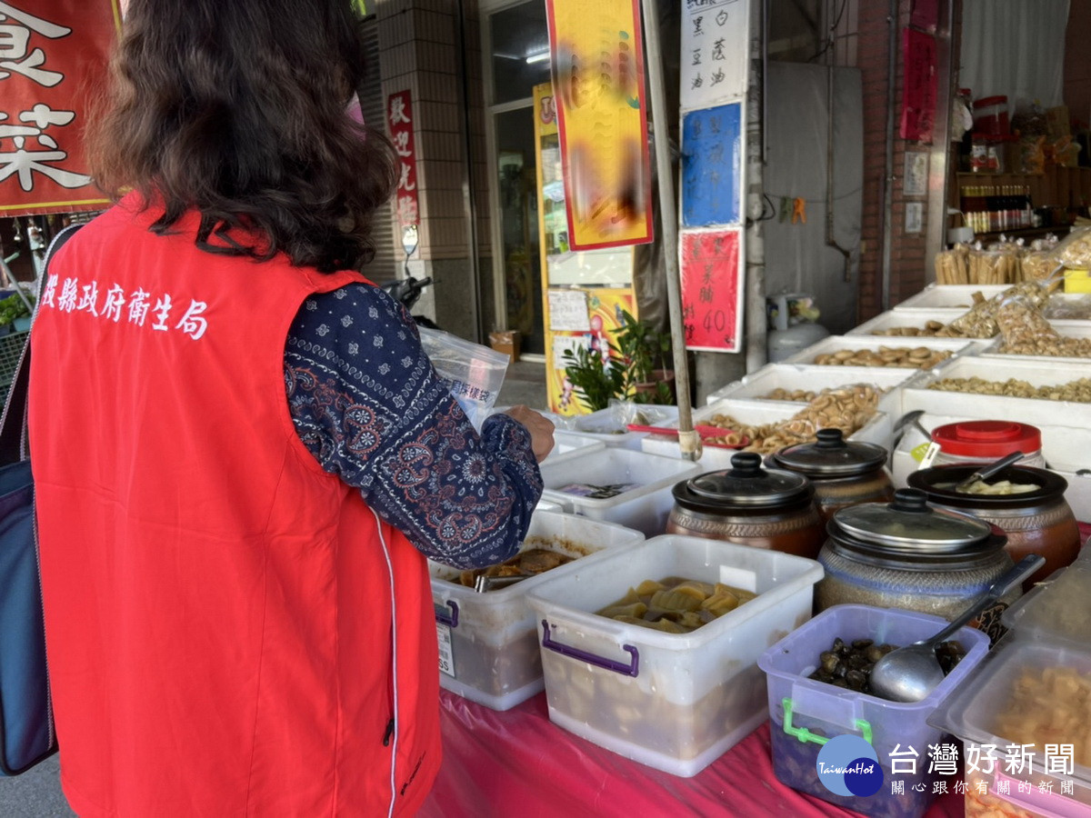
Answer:
[(427, 563), (285, 397), (300, 304), (363, 279), (203, 252), (195, 216), (159, 237), (133, 207), (57, 254), (33, 332), (65, 795), (84, 818), (412, 813), (440, 766)]

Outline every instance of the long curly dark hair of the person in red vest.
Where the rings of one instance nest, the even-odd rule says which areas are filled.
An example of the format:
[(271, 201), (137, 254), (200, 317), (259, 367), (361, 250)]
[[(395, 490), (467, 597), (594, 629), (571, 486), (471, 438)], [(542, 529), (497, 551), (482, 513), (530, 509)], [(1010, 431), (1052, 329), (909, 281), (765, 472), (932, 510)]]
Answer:
[(386, 137), (346, 112), (359, 31), (350, 0), (130, 0), (88, 136), (96, 184), (165, 205), (156, 232), (199, 210), (208, 252), (365, 264), (397, 177)]

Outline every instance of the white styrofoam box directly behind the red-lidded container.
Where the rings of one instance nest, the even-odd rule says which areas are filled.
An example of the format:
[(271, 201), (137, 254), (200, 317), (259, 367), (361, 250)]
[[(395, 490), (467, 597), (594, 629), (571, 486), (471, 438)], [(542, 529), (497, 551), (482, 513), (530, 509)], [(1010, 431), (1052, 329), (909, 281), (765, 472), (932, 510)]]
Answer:
[[(944, 393), (940, 393), (944, 394)], [(1017, 398), (1012, 398), (1014, 400)], [(1091, 411), (1091, 410), (1089, 410)], [(920, 417), (920, 423), (930, 432), (946, 423), (958, 423), (964, 420), (1022, 420), (1033, 422), (1031, 414), (1007, 414), (1003, 418), (973, 418), (970, 416), (934, 414), (925, 411)], [(1045, 425), (1033, 423), (1042, 432), (1042, 456), (1051, 471), (1068, 481), (1065, 490), (1065, 501), (1071, 506), (1072, 514), (1080, 522), (1091, 522), (1091, 474), (1080, 474), (1084, 469), (1091, 469), (1091, 428)], [(926, 438), (920, 430), (913, 426), (906, 429), (904, 435), (898, 442), (890, 461), (890, 474), (894, 484), (903, 489), (909, 482), (911, 472), (920, 468), (920, 464), (911, 454), (913, 448)]]

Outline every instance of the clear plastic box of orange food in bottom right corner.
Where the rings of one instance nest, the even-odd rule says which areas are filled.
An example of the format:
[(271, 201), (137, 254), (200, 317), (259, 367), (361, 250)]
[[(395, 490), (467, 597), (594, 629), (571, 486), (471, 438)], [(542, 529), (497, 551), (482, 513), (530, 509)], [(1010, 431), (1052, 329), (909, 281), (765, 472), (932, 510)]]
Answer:
[(1091, 649), (1014, 630), (928, 722), (961, 739), (968, 818), (1091, 815)]

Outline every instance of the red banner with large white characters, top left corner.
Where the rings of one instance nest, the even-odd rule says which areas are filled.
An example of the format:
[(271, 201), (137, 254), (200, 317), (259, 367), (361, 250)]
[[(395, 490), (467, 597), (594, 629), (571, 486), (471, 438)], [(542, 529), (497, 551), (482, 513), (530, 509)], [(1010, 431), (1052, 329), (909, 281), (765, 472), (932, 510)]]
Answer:
[(101, 209), (84, 151), (117, 0), (0, 0), (0, 215)]

